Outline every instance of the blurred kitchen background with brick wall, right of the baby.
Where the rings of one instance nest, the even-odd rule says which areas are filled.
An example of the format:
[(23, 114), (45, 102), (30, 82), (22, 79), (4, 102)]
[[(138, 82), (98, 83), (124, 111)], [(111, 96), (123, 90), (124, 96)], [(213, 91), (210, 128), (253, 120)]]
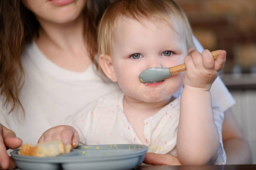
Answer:
[(227, 51), (220, 77), (256, 164), (256, 0), (175, 0), (204, 48)]

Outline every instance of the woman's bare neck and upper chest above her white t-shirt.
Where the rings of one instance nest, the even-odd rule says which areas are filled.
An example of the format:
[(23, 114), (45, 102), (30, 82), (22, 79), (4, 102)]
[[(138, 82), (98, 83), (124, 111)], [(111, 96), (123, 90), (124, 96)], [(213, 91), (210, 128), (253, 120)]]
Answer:
[(38, 18), (41, 25), (38, 48), (56, 65), (71, 71), (81, 72), (91, 64), (84, 44), (84, 19), (80, 15), (69, 23), (52, 23)]

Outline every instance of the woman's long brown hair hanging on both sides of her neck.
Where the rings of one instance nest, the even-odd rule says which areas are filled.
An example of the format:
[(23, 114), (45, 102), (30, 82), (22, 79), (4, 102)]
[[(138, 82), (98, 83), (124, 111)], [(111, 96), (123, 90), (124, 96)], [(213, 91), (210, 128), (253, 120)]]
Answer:
[[(87, 0), (84, 8), (84, 40), (93, 61), (97, 53), (97, 25), (111, 0)], [(36, 17), (21, 0), (0, 0), (0, 99), (3, 106), (11, 104), (24, 109), (19, 99), (23, 86), (21, 57), (26, 43), (38, 36)], [(25, 113), (24, 113), (25, 115)]]

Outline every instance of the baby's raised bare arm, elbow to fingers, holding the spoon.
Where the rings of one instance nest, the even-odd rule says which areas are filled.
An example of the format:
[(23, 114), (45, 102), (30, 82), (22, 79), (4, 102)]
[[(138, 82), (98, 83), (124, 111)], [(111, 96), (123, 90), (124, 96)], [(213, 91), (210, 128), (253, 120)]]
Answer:
[(212, 113), (210, 87), (225, 63), (226, 52), (213, 60), (210, 51), (193, 51), (185, 57), (177, 134), (177, 156), (184, 165), (214, 163), (218, 157), (219, 135)]

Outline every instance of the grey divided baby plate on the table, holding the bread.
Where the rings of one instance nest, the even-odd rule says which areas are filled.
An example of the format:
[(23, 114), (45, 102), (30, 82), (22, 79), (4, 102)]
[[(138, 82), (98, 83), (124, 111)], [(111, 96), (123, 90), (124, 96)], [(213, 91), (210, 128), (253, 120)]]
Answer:
[(88, 145), (56, 157), (32, 157), (10, 154), (20, 170), (128, 170), (140, 165), (148, 147), (145, 145)]

